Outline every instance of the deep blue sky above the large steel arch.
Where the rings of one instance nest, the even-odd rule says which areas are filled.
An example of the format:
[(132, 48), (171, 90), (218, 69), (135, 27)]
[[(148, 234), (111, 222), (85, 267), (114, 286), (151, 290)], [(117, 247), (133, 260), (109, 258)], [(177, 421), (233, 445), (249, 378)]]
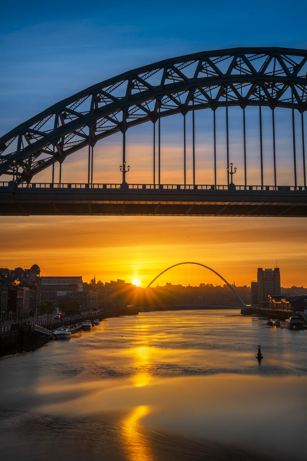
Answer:
[(307, 47), (306, 2), (6, 2), (0, 133), (106, 77), (208, 49)]

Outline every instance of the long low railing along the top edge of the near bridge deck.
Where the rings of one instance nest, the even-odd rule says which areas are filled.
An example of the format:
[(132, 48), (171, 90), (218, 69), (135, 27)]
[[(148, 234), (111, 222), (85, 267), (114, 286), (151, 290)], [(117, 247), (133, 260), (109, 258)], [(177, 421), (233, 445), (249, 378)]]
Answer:
[[(248, 192), (307, 192), (305, 186), (259, 186), (259, 185), (235, 185), (231, 184), (128, 184), (129, 190), (179, 190), (179, 191), (226, 191), (235, 190)], [(122, 184), (119, 183), (14, 183), (13, 181), (0, 182), (0, 189), (66, 189), (66, 190), (97, 190), (97, 189), (121, 189)]]

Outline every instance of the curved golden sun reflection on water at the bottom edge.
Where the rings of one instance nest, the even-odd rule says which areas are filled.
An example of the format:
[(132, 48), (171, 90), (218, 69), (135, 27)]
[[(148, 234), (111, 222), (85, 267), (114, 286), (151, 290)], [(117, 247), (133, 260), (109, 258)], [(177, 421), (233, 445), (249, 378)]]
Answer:
[(139, 432), (139, 421), (149, 414), (147, 405), (132, 410), (122, 422), (122, 439), (127, 459), (130, 461), (153, 461), (145, 435)]

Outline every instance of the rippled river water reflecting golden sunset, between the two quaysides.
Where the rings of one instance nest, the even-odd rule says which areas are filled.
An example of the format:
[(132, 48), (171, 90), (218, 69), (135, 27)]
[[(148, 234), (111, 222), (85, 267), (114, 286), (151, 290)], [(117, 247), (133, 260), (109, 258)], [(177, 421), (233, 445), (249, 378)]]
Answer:
[(3, 460), (306, 459), (307, 331), (237, 310), (107, 319), (0, 373)]

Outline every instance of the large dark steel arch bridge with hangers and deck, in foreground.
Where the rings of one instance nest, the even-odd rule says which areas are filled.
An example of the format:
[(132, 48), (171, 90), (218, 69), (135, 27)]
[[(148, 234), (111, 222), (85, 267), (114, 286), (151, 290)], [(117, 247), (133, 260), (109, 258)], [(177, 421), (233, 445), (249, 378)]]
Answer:
[[(5, 214), (172, 214), (220, 216), (307, 216), (304, 118), (307, 109), (307, 50), (249, 47), (167, 59), (89, 87), (36, 115), (0, 138), (0, 213)], [(243, 110), (244, 184), (235, 186), (229, 158), (228, 108)], [(261, 184), (247, 184), (245, 108), (259, 107)], [(264, 184), (261, 107), (272, 109), (274, 184)], [(226, 110), (227, 184), (216, 183), (215, 111)], [(294, 177), (278, 185), (274, 109), (292, 111)], [(196, 110), (210, 108), (214, 121), (214, 184), (195, 182)], [(301, 113), (303, 183), (297, 181), (295, 111)], [(192, 112), (193, 183), (186, 183), (185, 116)], [(184, 183), (161, 183), (161, 119), (183, 115)], [(153, 124), (153, 182), (126, 183), (126, 131)], [(156, 134), (156, 124), (158, 125)], [(93, 148), (122, 133), (122, 183), (93, 183)], [(156, 142), (157, 138), (157, 142)], [(297, 141), (296, 141), (297, 143)], [(156, 147), (157, 144), (157, 147)], [(67, 156), (88, 147), (88, 181), (61, 181)], [(54, 165), (59, 163), (59, 181)], [(52, 168), (51, 183), (31, 183)]]

